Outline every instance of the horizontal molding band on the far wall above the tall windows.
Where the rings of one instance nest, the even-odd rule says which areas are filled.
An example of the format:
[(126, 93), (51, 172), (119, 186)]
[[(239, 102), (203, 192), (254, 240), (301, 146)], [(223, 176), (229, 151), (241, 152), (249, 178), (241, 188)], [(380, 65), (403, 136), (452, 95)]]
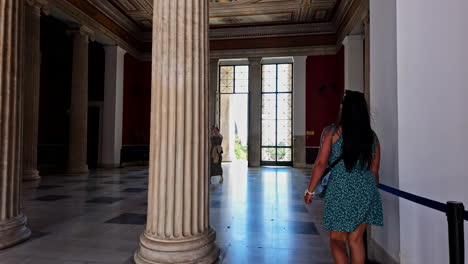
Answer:
[(282, 57), (282, 56), (317, 56), (336, 54), (335, 45), (331, 46), (307, 46), (297, 48), (272, 48), (272, 49), (242, 49), (211, 51), (211, 59), (236, 59), (248, 57)]

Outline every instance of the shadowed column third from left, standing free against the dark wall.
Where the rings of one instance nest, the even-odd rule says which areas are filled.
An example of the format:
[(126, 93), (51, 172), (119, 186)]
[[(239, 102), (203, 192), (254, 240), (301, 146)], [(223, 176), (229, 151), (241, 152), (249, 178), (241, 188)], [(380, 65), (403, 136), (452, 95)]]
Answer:
[(70, 105), (68, 172), (88, 172), (88, 44), (92, 32), (86, 26), (71, 30), (73, 65)]

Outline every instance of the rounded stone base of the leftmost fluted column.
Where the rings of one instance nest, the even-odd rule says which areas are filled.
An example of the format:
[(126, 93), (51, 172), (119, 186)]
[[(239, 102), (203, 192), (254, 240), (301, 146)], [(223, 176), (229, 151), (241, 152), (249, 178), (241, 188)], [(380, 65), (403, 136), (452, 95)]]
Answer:
[(29, 238), (31, 230), (26, 226), (26, 221), (24, 214), (0, 221), (0, 249), (14, 246)]

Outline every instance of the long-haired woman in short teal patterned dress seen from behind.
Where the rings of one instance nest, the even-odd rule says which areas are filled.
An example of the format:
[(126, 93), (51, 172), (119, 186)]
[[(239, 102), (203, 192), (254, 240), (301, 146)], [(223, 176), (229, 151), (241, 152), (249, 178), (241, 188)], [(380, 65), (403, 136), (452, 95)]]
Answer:
[(330, 231), (330, 248), (336, 264), (364, 264), (364, 231), (383, 225), (379, 182), (380, 145), (370, 126), (364, 94), (346, 91), (337, 126), (324, 130), (304, 201), (312, 202), (313, 190), (333, 164), (325, 193), (323, 224)]

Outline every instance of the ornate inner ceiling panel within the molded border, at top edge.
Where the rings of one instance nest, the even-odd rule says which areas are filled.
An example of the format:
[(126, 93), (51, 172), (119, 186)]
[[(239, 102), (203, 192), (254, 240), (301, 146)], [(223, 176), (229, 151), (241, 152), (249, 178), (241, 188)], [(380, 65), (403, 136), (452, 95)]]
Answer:
[[(127, 28), (151, 31), (153, 0), (86, 0)], [(341, 0), (209, 0), (210, 25), (233, 27), (330, 22)]]

